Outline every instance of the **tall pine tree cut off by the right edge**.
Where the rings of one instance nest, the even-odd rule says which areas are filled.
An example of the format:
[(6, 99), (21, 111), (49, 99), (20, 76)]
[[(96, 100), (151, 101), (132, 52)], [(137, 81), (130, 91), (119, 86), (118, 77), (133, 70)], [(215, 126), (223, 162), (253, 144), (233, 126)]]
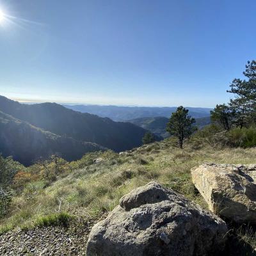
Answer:
[(229, 93), (235, 98), (230, 100), (230, 109), (234, 112), (234, 124), (243, 128), (256, 120), (256, 61), (248, 61), (243, 72), (247, 80), (234, 79)]

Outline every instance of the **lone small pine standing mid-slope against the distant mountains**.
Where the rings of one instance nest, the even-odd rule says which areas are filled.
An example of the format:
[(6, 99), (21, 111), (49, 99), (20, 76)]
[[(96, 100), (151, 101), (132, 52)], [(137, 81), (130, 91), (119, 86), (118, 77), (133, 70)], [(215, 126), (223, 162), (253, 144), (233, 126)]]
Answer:
[(182, 148), (184, 139), (189, 138), (196, 131), (196, 127), (193, 125), (195, 122), (195, 118), (188, 115), (188, 109), (179, 106), (176, 112), (172, 113), (166, 131), (178, 138), (179, 146)]

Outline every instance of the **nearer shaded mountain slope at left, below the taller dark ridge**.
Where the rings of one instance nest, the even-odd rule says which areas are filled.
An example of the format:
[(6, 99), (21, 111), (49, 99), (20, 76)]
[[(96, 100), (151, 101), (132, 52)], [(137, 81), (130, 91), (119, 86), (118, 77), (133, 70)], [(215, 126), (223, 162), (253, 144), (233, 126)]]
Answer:
[(81, 158), (86, 152), (104, 149), (95, 143), (44, 131), (0, 111), (0, 152), (4, 157), (13, 156), (13, 159), (26, 166), (40, 157), (45, 159), (56, 153), (71, 161)]

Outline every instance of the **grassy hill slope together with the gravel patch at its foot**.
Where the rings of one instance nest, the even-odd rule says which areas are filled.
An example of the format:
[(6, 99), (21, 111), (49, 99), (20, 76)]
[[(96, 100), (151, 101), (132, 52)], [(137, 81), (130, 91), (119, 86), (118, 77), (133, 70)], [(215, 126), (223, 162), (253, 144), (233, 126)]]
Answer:
[[(184, 149), (180, 150), (175, 145), (171, 139), (166, 139), (122, 155), (95, 152), (88, 154), (87, 159), (101, 157), (100, 163), (90, 161), (92, 164), (88, 164), (86, 161), (81, 164), (83, 161), (78, 161), (81, 164), (79, 170), (62, 173), (48, 186), (45, 186), (44, 180), (38, 180), (36, 184), (31, 182), (29, 190), (15, 195), (10, 205), (11, 211), (0, 220), (2, 232), (22, 225), (30, 230), (14, 230), (0, 236), (0, 243), (3, 244), (0, 254), (10, 255), (13, 252), (13, 255), (21, 255), (22, 250), (26, 249), (31, 255), (40, 255), (44, 254), (46, 248), (48, 252), (56, 250), (58, 255), (83, 255), (93, 223), (104, 218), (118, 205), (120, 198), (132, 189), (156, 180), (207, 208), (202, 196), (195, 191), (191, 168), (205, 162), (255, 163), (256, 148), (213, 148), (202, 145), (202, 148), (195, 150), (193, 144), (186, 143)], [(60, 211), (56, 212), (58, 209)], [(65, 219), (65, 216), (69, 216), (69, 219)], [(70, 227), (42, 227), (61, 225), (58, 220), (63, 220), (64, 224), (65, 220), (70, 221)], [(35, 228), (37, 225), (41, 227)], [(244, 227), (247, 228), (247, 225)], [(249, 244), (255, 244), (252, 241), (253, 233), (251, 238), (250, 234), (238, 234), (236, 240), (232, 230), (234, 227), (230, 227), (231, 234), (227, 234), (231, 239), (224, 255), (253, 255), (254, 248)], [(68, 242), (68, 237), (72, 243)]]

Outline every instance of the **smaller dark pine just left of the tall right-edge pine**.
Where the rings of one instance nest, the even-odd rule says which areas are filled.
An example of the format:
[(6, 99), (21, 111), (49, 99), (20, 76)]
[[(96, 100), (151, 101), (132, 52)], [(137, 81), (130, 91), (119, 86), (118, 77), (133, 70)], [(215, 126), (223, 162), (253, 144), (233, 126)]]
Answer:
[(234, 113), (226, 104), (217, 105), (211, 111), (211, 120), (220, 124), (226, 131), (230, 129), (232, 116)]

